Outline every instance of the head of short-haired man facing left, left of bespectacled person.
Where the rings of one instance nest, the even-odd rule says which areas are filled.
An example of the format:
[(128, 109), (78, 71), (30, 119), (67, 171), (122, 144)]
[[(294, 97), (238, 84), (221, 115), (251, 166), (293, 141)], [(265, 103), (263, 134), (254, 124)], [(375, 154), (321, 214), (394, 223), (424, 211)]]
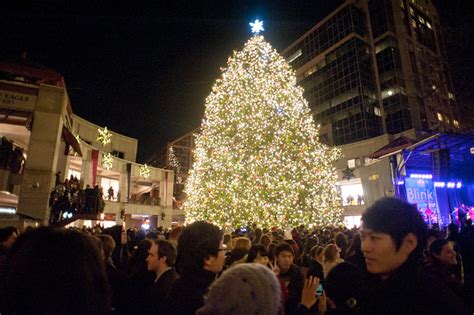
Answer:
[(169, 241), (154, 240), (146, 259), (148, 270), (156, 274), (173, 267), (176, 261), (176, 248)]

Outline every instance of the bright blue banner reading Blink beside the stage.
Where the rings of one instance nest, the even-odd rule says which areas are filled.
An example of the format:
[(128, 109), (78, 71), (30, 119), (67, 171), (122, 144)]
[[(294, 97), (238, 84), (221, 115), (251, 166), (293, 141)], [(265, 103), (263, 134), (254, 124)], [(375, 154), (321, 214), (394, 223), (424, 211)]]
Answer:
[(429, 224), (437, 224), (439, 218), (438, 202), (431, 179), (405, 178), (407, 201), (414, 204), (423, 219)]

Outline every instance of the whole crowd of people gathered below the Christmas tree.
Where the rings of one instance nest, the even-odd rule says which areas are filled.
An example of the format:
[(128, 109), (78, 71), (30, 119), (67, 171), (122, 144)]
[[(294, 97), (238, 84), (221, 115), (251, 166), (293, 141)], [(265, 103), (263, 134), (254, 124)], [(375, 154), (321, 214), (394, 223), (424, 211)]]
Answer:
[[(18, 236), (18, 238), (17, 238)], [(474, 230), (384, 198), (360, 228), (0, 230), (1, 314), (472, 314)]]

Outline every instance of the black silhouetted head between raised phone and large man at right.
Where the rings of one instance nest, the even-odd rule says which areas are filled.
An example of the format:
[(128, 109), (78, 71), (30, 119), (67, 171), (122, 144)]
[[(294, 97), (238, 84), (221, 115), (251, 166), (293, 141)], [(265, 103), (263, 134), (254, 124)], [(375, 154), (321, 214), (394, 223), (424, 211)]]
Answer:
[(329, 271), (324, 287), (327, 298), (339, 310), (354, 310), (360, 307), (362, 275), (355, 265), (342, 262)]

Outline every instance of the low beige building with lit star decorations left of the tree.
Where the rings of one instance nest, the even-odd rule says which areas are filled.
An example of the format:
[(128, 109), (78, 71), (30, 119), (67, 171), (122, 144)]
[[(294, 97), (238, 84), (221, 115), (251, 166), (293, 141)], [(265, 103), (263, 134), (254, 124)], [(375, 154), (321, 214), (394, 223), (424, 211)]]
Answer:
[(0, 225), (51, 223), (53, 193), (72, 179), (104, 199), (100, 219), (72, 224), (169, 227), (182, 217), (172, 209), (174, 172), (136, 163), (138, 141), (107, 131), (105, 143), (104, 130), (73, 114), (60, 74), (0, 62)]

